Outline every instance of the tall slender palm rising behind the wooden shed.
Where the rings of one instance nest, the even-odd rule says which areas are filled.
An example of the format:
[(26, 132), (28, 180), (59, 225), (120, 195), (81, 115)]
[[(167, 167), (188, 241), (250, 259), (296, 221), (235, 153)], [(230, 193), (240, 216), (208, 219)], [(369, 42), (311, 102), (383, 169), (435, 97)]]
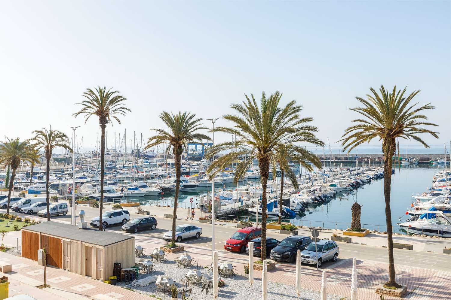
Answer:
[[(83, 108), (73, 114), (77, 117), (80, 114), (84, 115), (85, 124), (89, 117), (97, 116), (101, 129), (101, 150), (100, 150), (100, 216), (99, 216), (99, 230), (103, 230), (102, 224), (102, 209), (103, 209), (103, 177), (105, 173), (105, 128), (106, 124), (112, 123), (115, 119), (120, 124), (120, 119), (117, 115), (125, 116), (131, 110), (124, 106), (124, 101), (127, 100), (124, 96), (119, 94), (119, 91), (111, 91), (111, 88), (106, 90), (106, 87), (97, 86), (94, 90), (86, 89), (83, 93), (83, 100), (81, 103)], [(105, 223), (106, 226), (106, 223)]]

